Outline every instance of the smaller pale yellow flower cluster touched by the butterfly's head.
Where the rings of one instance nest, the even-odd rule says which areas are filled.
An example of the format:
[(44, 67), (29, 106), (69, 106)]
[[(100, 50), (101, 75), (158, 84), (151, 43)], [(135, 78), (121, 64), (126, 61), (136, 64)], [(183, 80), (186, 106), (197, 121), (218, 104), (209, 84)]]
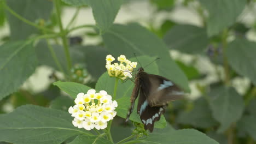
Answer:
[(121, 80), (125, 80), (126, 77), (132, 77), (131, 73), (132, 70), (137, 67), (137, 62), (129, 61), (124, 55), (118, 57), (120, 64), (111, 64), (113, 61), (115, 61), (115, 58), (112, 55), (107, 55), (106, 68), (109, 76), (118, 77)]

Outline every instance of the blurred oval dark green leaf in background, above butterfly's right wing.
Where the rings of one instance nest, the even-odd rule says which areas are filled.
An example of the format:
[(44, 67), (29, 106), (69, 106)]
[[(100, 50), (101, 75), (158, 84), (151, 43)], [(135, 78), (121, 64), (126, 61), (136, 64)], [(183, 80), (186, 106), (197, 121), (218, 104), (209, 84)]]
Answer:
[(210, 40), (206, 29), (191, 25), (176, 25), (164, 37), (170, 49), (185, 53), (202, 53)]

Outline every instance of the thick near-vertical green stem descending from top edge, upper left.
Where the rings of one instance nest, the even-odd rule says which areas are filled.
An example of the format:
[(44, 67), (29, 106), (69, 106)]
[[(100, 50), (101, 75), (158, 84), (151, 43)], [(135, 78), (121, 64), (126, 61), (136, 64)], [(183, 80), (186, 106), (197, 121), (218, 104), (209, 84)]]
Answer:
[(60, 31), (62, 33), (61, 39), (63, 43), (63, 47), (65, 50), (65, 55), (66, 55), (66, 60), (67, 60), (67, 67), (68, 67), (68, 73), (71, 74), (70, 70), (72, 67), (72, 62), (71, 62), (71, 57), (69, 53), (69, 48), (68, 48), (68, 43), (67, 43), (67, 38), (66, 38), (66, 31), (63, 29), (62, 22), (61, 22), (61, 14), (60, 14), (60, 0), (54, 0), (54, 5), (56, 9), (56, 14), (57, 14), (57, 21), (59, 23)]

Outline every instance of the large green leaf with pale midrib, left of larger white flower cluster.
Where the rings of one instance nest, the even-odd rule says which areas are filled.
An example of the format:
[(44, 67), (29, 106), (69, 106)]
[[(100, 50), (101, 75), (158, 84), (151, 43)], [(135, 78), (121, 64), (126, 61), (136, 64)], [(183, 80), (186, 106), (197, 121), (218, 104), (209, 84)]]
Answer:
[(68, 137), (92, 134), (75, 128), (68, 112), (25, 105), (0, 115), (0, 141), (20, 144), (59, 144)]

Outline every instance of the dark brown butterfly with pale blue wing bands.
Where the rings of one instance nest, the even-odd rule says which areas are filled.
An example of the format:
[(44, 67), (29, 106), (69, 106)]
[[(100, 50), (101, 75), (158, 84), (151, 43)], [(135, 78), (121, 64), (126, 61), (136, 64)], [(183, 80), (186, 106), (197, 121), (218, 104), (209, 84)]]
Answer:
[(125, 122), (129, 120), (138, 95), (137, 113), (144, 124), (144, 129), (152, 133), (154, 123), (165, 113), (168, 102), (181, 99), (184, 92), (165, 77), (148, 74), (143, 68), (139, 68), (131, 95), (131, 107)]

